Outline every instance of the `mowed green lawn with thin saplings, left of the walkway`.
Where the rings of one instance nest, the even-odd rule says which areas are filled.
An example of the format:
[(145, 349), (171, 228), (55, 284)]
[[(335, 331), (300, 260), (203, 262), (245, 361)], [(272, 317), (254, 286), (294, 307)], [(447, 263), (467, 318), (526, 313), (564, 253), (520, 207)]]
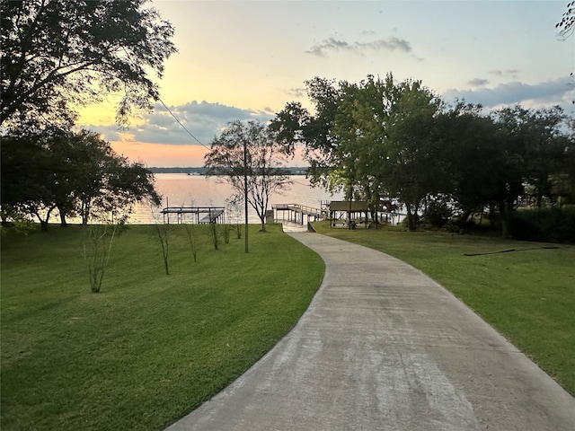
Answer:
[(154, 226), (117, 237), (93, 294), (81, 226), (2, 239), (2, 405), (10, 430), (157, 430), (208, 400), (305, 311), (323, 261), (279, 226), (193, 262), (173, 226), (170, 275)]

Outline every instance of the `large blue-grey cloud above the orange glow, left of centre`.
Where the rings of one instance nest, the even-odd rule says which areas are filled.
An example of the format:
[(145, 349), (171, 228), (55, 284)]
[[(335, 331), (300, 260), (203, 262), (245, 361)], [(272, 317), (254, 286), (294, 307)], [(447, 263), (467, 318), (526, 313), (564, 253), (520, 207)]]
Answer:
[(83, 127), (102, 134), (108, 141), (209, 145), (212, 139), (218, 136), (231, 121), (257, 119), (266, 122), (274, 117), (274, 112), (269, 108), (244, 110), (208, 101), (189, 101), (181, 105), (169, 106), (168, 109), (173, 115), (163, 105), (158, 104), (153, 112), (144, 114), (141, 121), (128, 129), (119, 129), (114, 124), (83, 125)]

